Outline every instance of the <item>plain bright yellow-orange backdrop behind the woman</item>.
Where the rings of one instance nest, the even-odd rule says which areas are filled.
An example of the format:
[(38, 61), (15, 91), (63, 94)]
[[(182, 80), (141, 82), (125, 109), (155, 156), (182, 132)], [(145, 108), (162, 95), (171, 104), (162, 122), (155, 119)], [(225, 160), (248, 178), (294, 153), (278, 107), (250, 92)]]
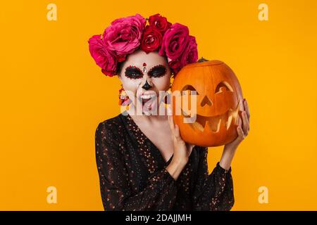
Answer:
[[(57, 6), (57, 21), (46, 6)], [(268, 4), (268, 21), (258, 19)], [(232, 162), (232, 210), (317, 210), (317, 1), (1, 1), (0, 210), (103, 210), (97, 124), (118, 115), (117, 77), (87, 40), (112, 20), (161, 13), (189, 27), (199, 58), (236, 72), (251, 111)], [(209, 170), (221, 148), (209, 149)], [(56, 186), (57, 204), (46, 203)], [(258, 188), (268, 188), (268, 203)]]

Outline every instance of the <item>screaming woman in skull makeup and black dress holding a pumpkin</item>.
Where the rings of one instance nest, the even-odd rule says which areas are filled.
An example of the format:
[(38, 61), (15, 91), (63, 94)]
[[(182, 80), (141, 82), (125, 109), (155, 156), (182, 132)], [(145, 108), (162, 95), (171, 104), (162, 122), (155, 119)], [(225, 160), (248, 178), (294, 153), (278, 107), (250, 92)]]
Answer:
[[(138, 14), (136, 16), (142, 24), (144, 20)], [(152, 24), (158, 24), (153, 22), (155, 20), (166, 22), (159, 14), (154, 17), (150, 17)], [(118, 23), (122, 21), (117, 20)], [(160, 105), (160, 99), (156, 98), (159, 91), (167, 91), (170, 77), (186, 65), (180, 63), (178, 68), (175, 67), (172, 54), (164, 49), (165, 34), (170, 32), (173, 25), (167, 27), (159, 49), (147, 51), (149, 48), (142, 46), (142, 40), (146, 38), (144, 35), (139, 39), (141, 44), (130, 53), (121, 54), (118, 49), (116, 53), (104, 53), (111, 47), (106, 47), (107, 44), (99, 46), (104, 55), (115, 56), (113, 58), (118, 60), (112, 70), (108, 67), (110, 63), (101, 63), (104, 74), (118, 75), (123, 89), (128, 92), (126, 99), (133, 98), (142, 103), (142, 115), (132, 114), (128, 110), (125, 111), (127, 115), (120, 113), (100, 122), (97, 127), (96, 157), (104, 209), (230, 210), (234, 204), (230, 165), (237, 146), (249, 131), (247, 101), (244, 100), (242, 124), (237, 127), (239, 136), (225, 145), (220, 161), (209, 174), (208, 149), (185, 143), (178, 126), (173, 123), (173, 117), (166, 112), (151, 115), (153, 107)], [(113, 44), (107, 39), (107, 32), (109, 30), (105, 31), (102, 43)], [(142, 32), (146, 33), (144, 30)], [(97, 38), (89, 40), (90, 46), (99, 41)], [(173, 41), (173, 38), (168, 41)], [(97, 51), (94, 48), (90, 50), (92, 56), (96, 56)], [(122, 57), (124, 60), (120, 61)], [(192, 63), (197, 60), (196, 56), (191, 58)], [(98, 64), (98, 60), (96, 62)]]

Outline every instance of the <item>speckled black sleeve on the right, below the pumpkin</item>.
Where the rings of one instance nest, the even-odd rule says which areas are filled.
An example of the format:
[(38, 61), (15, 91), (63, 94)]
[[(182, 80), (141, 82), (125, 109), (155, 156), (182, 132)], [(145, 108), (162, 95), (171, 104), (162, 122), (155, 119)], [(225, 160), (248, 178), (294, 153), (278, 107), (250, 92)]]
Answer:
[(229, 211), (235, 203), (231, 167), (226, 170), (217, 162), (209, 174), (207, 165), (208, 148), (201, 147), (197, 182), (194, 188), (194, 210)]

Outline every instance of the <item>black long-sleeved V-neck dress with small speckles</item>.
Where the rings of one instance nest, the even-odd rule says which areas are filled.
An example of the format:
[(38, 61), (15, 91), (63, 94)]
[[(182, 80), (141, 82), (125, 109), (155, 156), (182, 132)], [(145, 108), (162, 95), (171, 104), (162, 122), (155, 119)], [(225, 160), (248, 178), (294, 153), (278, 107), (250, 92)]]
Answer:
[(208, 149), (194, 146), (175, 181), (171, 158), (165, 162), (130, 115), (100, 122), (95, 146), (104, 210), (230, 210), (235, 202), (231, 167), (217, 162), (209, 174)]

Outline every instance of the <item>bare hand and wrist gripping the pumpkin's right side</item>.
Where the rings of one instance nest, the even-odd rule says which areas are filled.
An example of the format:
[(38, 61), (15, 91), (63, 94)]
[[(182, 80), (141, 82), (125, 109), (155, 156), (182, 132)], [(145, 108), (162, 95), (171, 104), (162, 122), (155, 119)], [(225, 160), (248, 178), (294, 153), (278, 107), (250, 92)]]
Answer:
[[(246, 138), (249, 134), (249, 122), (250, 122), (250, 111), (249, 105), (247, 103), (247, 99), (243, 99), (244, 110), (241, 112), (242, 120), (239, 120), (239, 124), (237, 126), (237, 138), (230, 143), (227, 143), (223, 148), (223, 155), (220, 159), (220, 166), (224, 169), (229, 169), (233, 156), (235, 155), (235, 150), (237, 150), (237, 146)], [(240, 116), (240, 115), (239, 115)], [(241, 118), (240, 117), (240, 118)]]

